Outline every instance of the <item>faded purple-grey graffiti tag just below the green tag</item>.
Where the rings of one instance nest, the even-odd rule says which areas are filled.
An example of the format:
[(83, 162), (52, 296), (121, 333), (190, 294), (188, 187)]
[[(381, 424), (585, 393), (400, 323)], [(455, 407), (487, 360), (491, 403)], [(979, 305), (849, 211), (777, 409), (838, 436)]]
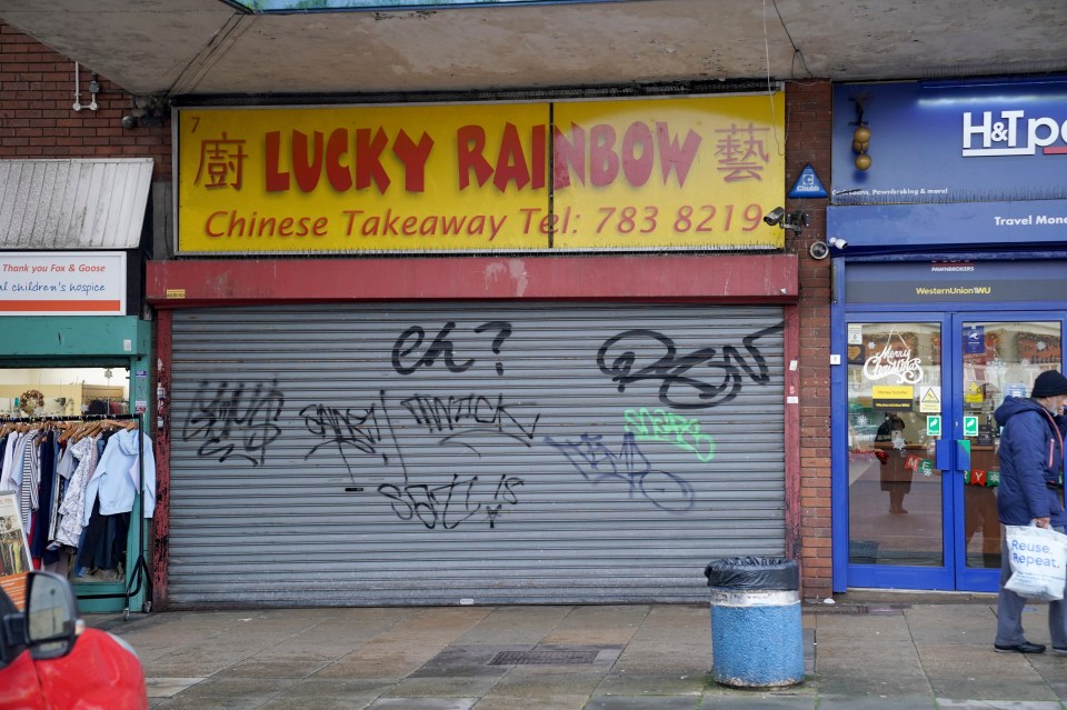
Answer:
[(577, 441), (556, 441), (545, 437), (545, 442), (555, 447), (591, 483), (621, 480), (629, 486), (630, 498), (640, 492), (650, 503), (672, 513), (684, 513), (692, 508), (692, 487), (688, 481), (668, 473), (654, 471), (648, 458), (641, 453), (634, 434), (622, 434), (622, 446), (614, 453), (599, 434), (581, 434)]

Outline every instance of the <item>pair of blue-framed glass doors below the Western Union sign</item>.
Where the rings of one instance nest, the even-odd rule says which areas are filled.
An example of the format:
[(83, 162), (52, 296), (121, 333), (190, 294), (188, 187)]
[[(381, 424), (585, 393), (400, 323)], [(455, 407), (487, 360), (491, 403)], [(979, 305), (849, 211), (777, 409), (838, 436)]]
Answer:
[(844, 314), (831, 383), (835, 591), (996, 591), (991, 414), (1061, 368), (1064, 320), (1045, 310)]

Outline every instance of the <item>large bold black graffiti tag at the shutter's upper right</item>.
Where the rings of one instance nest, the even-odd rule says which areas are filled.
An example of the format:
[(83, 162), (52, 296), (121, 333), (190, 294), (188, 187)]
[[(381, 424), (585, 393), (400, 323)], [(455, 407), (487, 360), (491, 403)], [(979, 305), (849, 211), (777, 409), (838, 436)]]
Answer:
[[(700, 348), (688, 354), (678, 356), (675, 341), (662, 333), (655, 330), (626, 330), (604, 341), (597, 353), (597, 366), (601, 372), (611, 376), (611, 380), (619, 383), (620, 392), (625, 392), (626, 387), (634, 382), (659, 380), (659, 401), (668, 407), (675, 409), (717, 407), (737, 397), (741, 391), (745, 374), (758, 384), (765, 384), (770, 380), (767, 361), (756, 343), (765, 336), (781, 332), (782, 328), (784, 324), (778, 323), (758, 330), (741, 340), (741, 347), (751, 358), (751, 363), (746, 354), (739, 352), (734, 346), (725, 346), (721, 351), (716, 348)], [(635, 344), (627, 349), (627, 342)], [(635, 371), (635, 366), (641, 364), (638, 362), (639, 358), (635, 349), (638, 347), (647, 349), (649, 343), (654, 346), (658, 343), (662, 354), (659, 359)], [(609, 362), (611, 353), (616, 351), (618, 353)], [(690, 370), (697, 367), (718, 370), (721, 372), (721, 378), (709, 383), (689, 377)], [(685, 390), (679, 394), (678, 390), (682, 388)]]

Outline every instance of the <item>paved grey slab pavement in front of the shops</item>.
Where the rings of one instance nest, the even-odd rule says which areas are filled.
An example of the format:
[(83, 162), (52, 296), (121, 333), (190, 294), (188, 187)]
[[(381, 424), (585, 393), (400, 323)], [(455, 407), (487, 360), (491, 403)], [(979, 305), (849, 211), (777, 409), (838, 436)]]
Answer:
[[(1067, 657), (994, 653), (995, 597), (805, 602), (801, 618), (805, 681), (742, 690), (711, 678), (707, 606), (86, 617), (137, 649), (152, 708), (1067, 710)], [(1048, 643), (1044, 604), (1024, 624)]]

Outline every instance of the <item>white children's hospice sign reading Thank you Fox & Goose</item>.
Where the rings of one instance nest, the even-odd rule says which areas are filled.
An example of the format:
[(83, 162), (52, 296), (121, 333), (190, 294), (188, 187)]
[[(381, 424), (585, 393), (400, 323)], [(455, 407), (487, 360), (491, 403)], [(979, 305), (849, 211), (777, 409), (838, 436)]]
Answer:
[(126, 253), (0, 252), (0, 316), (124, 316)]

